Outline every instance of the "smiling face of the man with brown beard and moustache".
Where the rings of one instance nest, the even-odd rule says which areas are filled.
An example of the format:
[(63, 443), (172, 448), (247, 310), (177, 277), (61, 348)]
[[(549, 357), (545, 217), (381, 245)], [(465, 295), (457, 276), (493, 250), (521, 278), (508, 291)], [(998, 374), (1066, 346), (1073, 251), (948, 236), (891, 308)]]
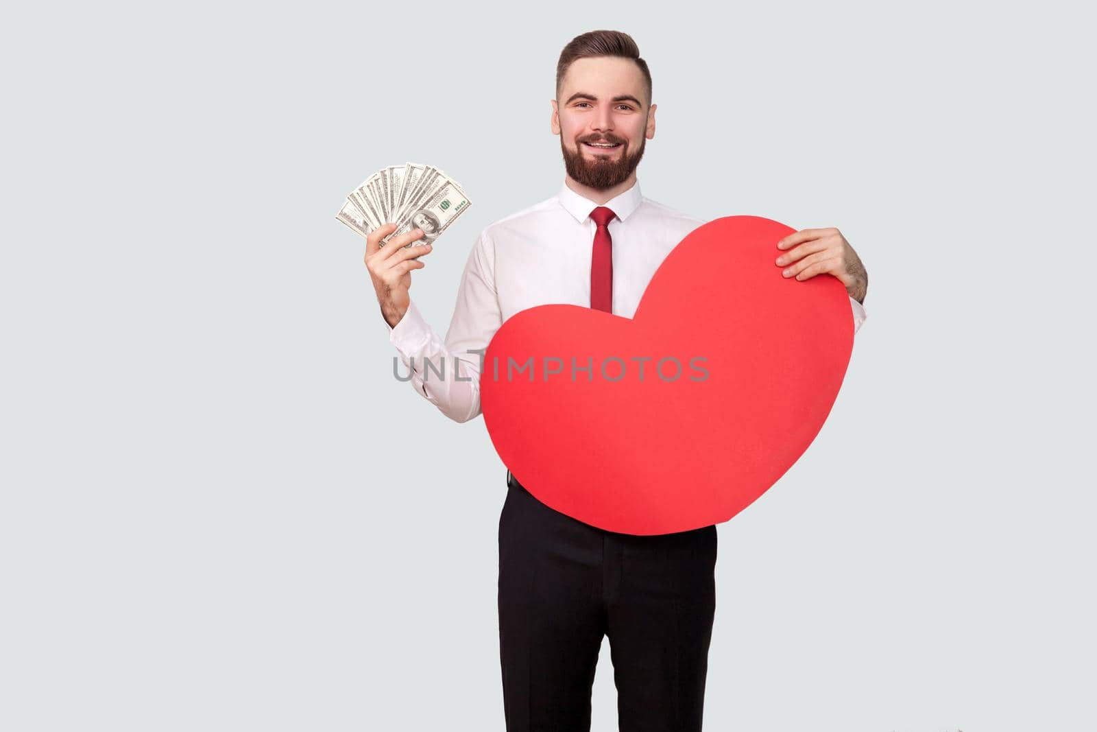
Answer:
[(644, 75), (631, 59), (574, 61), (552, 103), (552, 131), (559, 135), (567, 174), (599, 191), (627, 180), (644, 155), (645, 139), (655, 136), (657, 105), (646, 97)]

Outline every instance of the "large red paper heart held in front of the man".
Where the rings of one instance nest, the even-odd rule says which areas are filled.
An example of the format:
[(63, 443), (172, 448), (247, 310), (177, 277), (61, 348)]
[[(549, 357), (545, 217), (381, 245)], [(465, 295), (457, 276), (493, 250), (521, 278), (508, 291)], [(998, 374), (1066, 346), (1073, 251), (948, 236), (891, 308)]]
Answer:
[(758, 216), (698, 227), (632, 319), (578, 305), (508, 318), (480, 404), (514, 477), (557, 511), (633, 534), (726, 521), (769, 489), (823, 427), (853, 347), (841, 283), (773, 263), (793, 232)]

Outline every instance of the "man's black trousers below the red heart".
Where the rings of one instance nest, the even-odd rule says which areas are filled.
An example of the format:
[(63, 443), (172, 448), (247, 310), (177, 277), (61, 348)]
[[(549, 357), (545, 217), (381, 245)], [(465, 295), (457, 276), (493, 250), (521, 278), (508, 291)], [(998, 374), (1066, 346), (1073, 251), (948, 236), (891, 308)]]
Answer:
[(499, 516), (507, 731), (588, 732), (602, 635), (621, 732), (700, 730), (716, 527), (606, 531), (545, 506), (507, 475)]

